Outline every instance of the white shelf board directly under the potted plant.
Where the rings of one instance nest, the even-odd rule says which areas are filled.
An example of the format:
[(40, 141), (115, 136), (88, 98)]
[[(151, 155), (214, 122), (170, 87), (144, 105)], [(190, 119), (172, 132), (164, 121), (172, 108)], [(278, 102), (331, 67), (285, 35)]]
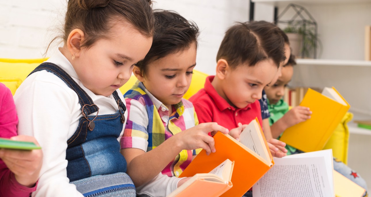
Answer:
[(324, 66), (362, 66), (371, 67), (371, 61), (339, 60), (339, 59), (296, 59), (298, 65), (324, 65)]

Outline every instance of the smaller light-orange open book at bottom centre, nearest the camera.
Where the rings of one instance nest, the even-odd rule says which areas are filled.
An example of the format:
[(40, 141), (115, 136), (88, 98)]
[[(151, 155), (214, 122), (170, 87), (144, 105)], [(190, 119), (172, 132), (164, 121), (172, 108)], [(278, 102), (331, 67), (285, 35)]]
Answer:
[(234, 161), (226, 159), (209, 173), (195, 174), (167, 197), (220, 196), (233, 186), (233, 167)]

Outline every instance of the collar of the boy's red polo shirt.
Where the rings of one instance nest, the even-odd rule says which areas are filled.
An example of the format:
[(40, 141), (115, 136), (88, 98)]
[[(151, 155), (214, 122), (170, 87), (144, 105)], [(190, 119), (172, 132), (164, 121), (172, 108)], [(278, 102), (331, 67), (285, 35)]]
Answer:
[(214, 80), (214, 77), (215, 76), (210, 75), (206, 78), (204, 90), (206, 91), (207, 94), (209, 94), (211, 99), (214, 100), (216, 106), (218, 107), (218, 109), (220, 111), (223, 111), (225, 109), (231, 109), (233, 111), (236, 111), (236, 110), (238, 111), (238, 110), (247, 110), (247, 109), (251, 108), (251, 104), (248, 104), (243, 109), (239, 109), (239, 108), (236, 109), (236, 107), (231, 106), (223, 97), (221, 97), (218, 94), (218, 92), (215, 90), (214, 86), (211, 84), (211, 82)]

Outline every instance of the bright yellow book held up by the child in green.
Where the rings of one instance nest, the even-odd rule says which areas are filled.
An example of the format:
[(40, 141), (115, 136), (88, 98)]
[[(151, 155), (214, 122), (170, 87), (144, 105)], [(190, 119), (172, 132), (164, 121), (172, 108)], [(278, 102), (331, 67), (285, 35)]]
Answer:
[(286, 129), (280, 140), (304, 152), (322, 150), (350, 108), (334, 87), (322, 94), (309, 88), (300, 106), (310, 108), (311, 118)]

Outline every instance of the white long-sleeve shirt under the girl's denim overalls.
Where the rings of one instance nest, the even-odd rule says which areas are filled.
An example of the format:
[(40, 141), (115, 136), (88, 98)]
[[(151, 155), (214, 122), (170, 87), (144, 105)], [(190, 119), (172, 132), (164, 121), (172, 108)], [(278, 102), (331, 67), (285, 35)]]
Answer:
[[(98, 115), (117, 112), (118, 106), (114, 97), (96, 95), (86, 88), (68, 59), (59, 50), (47, 62), (61, 67), (86, 91), (99, 107)], [(117, 91), (120, 99), (124, 101), (122, 93)], [(82, 197), (75, 185), (69, 183), (66, 170), (67, 140), (75, 133), (82, 117), (77, 94), (56, 75), (43, 70), (33, 73), (23, 81), (14, 95), (14, 101), (19, 118), (18, 133), (35, 136), (43, 151), (39, 184), (32, 196)], [(125, 120), (126, 117), (127, 112)], [(125, 124), (126, 122), (118, 141), (124, 132)]]

